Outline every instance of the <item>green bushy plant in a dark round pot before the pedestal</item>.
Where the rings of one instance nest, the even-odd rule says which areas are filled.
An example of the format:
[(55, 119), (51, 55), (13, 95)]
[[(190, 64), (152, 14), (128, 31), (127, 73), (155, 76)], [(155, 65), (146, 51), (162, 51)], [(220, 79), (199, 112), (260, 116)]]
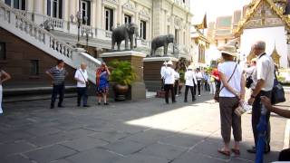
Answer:
[(137, 74), (134, 72), (131, 62), (114, 60), (109, 63), (111, 67), (111, 82), (115, 93), (115, 101), (125, 101), (129, 91), (129, 86), (136, 80)]

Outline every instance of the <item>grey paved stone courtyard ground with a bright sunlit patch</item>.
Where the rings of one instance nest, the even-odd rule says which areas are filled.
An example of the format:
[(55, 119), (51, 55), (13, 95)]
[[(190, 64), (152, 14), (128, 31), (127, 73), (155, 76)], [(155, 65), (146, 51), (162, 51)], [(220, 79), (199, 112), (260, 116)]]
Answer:
[[(5, 104), (0, 117), (1, 163), (191, 163), (253, 162), (250, 114), (243, 115), (241, 156), (218, 154), (218, 104), (211, 96), (165, 105), (162, 99), (112, 102), (110, 106), (49, 110), (50, 101)], [(95, 104), (95, 99), (90, 98)], [(288, 104), (288, 103), (286, 103)], [(272, 152), (283, 148), (285, 119), (272, 115)]]

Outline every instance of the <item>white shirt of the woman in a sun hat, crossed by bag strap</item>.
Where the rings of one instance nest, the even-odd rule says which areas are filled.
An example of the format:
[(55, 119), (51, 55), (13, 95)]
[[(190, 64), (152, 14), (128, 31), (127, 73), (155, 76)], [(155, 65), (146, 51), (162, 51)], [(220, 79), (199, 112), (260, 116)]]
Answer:
[[(223, 73), (227, 77), (227, 81), (235, 70), (237, 62), (223, 62), (218, 64), (218, 72)], [(241, 91), (241, 80), (242, 80), (243, 70), (240, 65), (237, 65), (237, 69), (234, 72), (233, 77), (228, 82), (230, 87), (232, 87), (235, 91)], [(223, 82), (221, 82), (220, 88), (224, 86)], [(227, 88), (224, 88), (219, 92), (220, 97), (236, 97), (231, 91), (228, 91)]]

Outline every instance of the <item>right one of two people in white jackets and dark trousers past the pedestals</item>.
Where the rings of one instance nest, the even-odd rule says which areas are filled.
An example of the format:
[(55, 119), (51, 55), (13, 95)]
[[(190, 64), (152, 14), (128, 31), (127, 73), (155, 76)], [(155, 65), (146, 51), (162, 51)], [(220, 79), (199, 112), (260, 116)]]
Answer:
[(191, 92), (192, 101), (196, 101), (193, 87), (194, 87), (194, 84), (197, 84), (198, 82), (197, 82), (196, 75), (192, 70), (193, 70), (193, 66), (189, 65), (188, 71), (185, 72), (185, 75), (184, 75), (184, 79), (185, 79), (184, 102), (188, 102), (189, 89)]

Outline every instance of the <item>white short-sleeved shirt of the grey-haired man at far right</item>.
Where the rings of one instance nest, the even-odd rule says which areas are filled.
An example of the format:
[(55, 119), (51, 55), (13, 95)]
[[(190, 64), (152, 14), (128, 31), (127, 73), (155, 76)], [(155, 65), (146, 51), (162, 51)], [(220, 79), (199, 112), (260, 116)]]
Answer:
[[(262, 91), (272, 91), (275, 79), (275, 65), (271, 57), (266, 54), (260, 54), (256, 60), (256, 82), (265, 81)], [(263, 55), (263, 56), (262, 56)]]

